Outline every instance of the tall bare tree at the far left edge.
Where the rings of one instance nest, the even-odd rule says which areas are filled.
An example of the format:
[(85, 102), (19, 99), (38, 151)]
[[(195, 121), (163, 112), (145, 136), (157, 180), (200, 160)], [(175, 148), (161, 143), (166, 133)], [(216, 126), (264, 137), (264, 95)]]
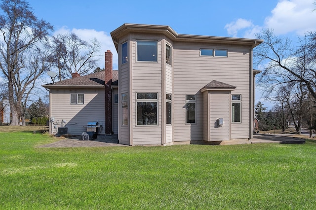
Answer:
[(26, 103), (29, 90), (34, 88), (35, 80), (44, 70), (39, 66), (29, 69), (25, 60), (31, 50), (39, 50), (36, 45), (47, 40), (53, 27), (39, 20), (24, 0), (3, 0), (0, 8), (0, 69), (8, 82), (11, 125), (19, 125), (19, 118), (23, 119), (24, 115), (23, 103)]

